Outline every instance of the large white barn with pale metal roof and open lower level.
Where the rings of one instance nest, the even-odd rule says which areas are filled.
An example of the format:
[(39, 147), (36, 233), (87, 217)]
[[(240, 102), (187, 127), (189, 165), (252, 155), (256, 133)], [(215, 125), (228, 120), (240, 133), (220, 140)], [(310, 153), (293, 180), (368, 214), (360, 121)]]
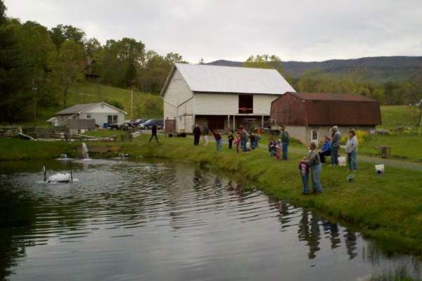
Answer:
[(263, 126), (271, 102), (287, 91), (295, 90), (277, 70), (177, 63), (161, 91), (165, 126), (186, 133), (196, 123), (224, 130)]

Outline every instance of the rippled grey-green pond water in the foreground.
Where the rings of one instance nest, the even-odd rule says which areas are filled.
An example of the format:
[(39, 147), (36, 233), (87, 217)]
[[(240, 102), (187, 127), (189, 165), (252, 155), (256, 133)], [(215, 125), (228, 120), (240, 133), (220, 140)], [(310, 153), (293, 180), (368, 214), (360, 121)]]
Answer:
[[(48, 185), (41, 162), (0, 164), (0, 280), (365, 280), (406, 266), (309, 209), (229, 176), (93, 160)], [(49, 162), (53, 171), (65, 164)]]

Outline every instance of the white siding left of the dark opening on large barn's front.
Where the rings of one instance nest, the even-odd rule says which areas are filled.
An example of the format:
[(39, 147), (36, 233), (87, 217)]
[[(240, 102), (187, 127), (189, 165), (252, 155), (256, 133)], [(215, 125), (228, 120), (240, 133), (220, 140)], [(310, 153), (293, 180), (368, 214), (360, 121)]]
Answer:
[(230, 93), (195, 93), (195, 115), (236, 115), (239, 98)]

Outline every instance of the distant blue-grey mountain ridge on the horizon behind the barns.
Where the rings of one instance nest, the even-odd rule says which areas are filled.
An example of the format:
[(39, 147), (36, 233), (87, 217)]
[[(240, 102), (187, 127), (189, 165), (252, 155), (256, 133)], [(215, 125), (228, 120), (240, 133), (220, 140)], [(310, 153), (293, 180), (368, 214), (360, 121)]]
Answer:
[[(241, 67), (242, 62), (232, 60), (216, 60), (209, 65), (227, 65)], [(284, 70), (293, 78), (318, 74), (356, 73), (363, 78), (375, 82), (401, 81), (422, 72), (422, 56), (369, 57), (350, 60), (325, 60), (321, 62), (281, 62)]]

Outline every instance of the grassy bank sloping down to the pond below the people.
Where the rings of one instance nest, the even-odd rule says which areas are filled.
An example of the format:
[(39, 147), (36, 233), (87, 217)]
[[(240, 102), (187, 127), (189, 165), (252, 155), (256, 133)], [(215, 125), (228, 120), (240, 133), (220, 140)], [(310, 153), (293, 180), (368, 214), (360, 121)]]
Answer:
[[(193, 147), (191, 139), (161, 137), (161, 143), (148, 145), (147, 139), (141, 136), (134, 143), (123, 143), (121, 150), (131, 156), (164, 157), (224, 169), (248, 178), (271, 197), (353, 223), (386, 250), (422, 254), (422, 175), (415, 171), (387, 167), (385, 175), (378, 176), (371, 164), (359, 163), (355, 181), (349, 183), (345, 167), (324, 166), (324, 193), (303, 196), (298, 175), (298, 159), (303, 155), (292, 154), (288, 161), (276, 162), (265, 148), (236, 155), (226, 144), (222, 152), (216, 152), (214, 143), (207, 148)], [(1, 159), (13, 159), (13, 154), (16, 159), (56, 158), (63, 152), (73, 156), (77, 145), (0, 140), (0, 155)], [(101, 145), (106, 144), (89, 143), (91, 148)], [(22, 154), (26, 157), (20, 157)]]

